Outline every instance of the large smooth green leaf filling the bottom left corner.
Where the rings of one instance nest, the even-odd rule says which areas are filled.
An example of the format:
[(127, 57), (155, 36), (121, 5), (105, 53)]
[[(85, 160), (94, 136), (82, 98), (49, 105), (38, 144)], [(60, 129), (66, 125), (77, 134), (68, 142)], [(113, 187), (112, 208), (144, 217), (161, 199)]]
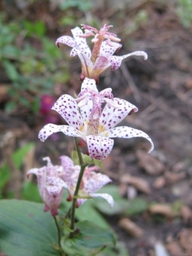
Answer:
[(0, 248), (9, 256), (59, 256), (53, 218), (43, 204), (0, 201)]

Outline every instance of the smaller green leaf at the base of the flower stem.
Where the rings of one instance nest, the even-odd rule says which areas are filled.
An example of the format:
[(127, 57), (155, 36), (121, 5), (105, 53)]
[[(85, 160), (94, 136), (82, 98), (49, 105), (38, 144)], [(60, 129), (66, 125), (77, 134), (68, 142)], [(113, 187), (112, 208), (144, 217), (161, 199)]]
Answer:
[[(90, 221), (75, 224), (77, 230), (73, 238), (62, 237), (61, 247), (65, 253), (76, 256), (92, 256), (115, 245), (113, 232), (105, 230)], [(94, 231), (93, 231), (94, 230)]]

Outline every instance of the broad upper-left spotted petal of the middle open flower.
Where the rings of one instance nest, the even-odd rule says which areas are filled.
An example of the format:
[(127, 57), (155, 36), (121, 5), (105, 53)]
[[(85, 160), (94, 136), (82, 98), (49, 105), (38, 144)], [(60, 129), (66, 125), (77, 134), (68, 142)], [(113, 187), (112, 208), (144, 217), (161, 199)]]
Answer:
[(67, 121), (67, 124), (76, 129), (83, 126), (83, 119), (79, 113), (77, 102), (72, 96), (62, 95), (54, 104), (53, 108), (61, 117)]

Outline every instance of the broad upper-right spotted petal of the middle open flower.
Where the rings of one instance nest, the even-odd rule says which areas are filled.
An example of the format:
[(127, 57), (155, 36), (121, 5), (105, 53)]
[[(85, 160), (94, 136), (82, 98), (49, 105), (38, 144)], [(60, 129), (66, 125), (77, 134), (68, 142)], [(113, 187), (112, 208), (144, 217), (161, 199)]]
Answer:
[[(138, 108), (123, 99), (113, 98), (115, 105), (119, 108), (113, 108), (111, 104), (106, 104), (102, 110), (102, 116), (100, 118), (99, 133), (112, 129), (115, 125), (118, 125), (120, 121), (125, 119), (127, 114), (137, 112)], [(108, 137), (108, 135), (106, 135)]]

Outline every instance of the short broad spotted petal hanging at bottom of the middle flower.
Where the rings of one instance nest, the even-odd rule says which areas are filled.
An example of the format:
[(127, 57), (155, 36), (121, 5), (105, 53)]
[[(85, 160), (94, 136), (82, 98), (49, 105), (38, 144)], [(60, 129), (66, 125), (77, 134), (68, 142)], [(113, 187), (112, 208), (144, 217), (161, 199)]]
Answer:
[(90, 158), (103, 160), (113, 148), (113, 140), (108, 137), (86, 136)]

